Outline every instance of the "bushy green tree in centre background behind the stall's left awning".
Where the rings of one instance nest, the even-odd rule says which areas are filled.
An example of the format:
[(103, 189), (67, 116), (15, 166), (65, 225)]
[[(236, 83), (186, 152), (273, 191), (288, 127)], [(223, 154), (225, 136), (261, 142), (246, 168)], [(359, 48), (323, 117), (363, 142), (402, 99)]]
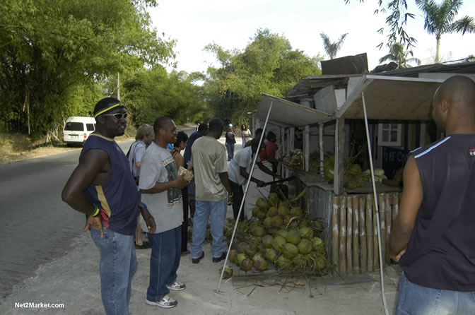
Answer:
[(209, 67), (204, 97), (218, 117), (237, 124), (256, 109), (262, 93), (283, 97), (303, 76), (322, 73), (321, 58), (293, 50), (286, 37), (259, 29), (250, 40), (243, 51), (228, 51), (218, 44), (205, 47), (221, 66)]

